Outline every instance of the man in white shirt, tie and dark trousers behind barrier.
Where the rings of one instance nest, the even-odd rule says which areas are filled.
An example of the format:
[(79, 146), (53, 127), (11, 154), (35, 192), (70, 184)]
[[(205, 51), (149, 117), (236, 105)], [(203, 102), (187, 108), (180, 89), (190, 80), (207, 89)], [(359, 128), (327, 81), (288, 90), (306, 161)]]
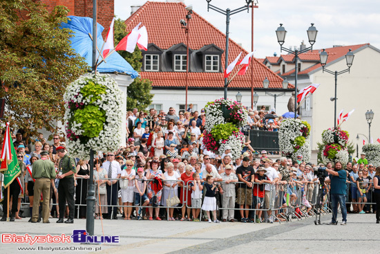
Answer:
[[(108, 203), (108, 219), (117, 219), (117, 190), (119, 186), (119, 182), (116, 179), (120, 179), (120, 175), (122, 174), (122, 169), (120, 168), (120, 164), (115, 161), (115, 154), (113, 152), (107, 153), (107, 160), (104, 161), (102, 167), (107, 171), (108, 180), (106, 184), (107, 188), (107, 203)], [(113, 215), (111, 214), (113, 207)]]

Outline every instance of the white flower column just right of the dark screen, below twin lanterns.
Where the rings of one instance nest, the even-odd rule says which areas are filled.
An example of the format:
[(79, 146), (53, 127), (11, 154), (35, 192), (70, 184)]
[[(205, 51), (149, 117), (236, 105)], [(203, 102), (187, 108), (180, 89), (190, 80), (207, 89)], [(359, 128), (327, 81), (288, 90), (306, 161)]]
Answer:
[[(299, 119), (289, 118), (283, 120), (278, 131), (278, 145), (284, 156), (296, 160), (298, 155), (302, 155), (303, 161), (310, 161), (312, 150), (310, 139), (307, 135), (310, 129), (305, 131), (305, 129), (310, 128), (307, 125), (307, 122)], [(298, 144), (298, 140), (303, 140), (303, 144)]]

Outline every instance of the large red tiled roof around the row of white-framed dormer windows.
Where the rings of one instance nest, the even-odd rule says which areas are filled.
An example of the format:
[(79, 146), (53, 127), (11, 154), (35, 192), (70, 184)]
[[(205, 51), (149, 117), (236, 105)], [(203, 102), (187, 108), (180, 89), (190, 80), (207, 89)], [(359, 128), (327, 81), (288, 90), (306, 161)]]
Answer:
[[(133, 29), (139, 22), (146, 26), (149, 43), (154, 43), (162, 49), (170, 48), (175, 44), (183, 42), (186, 44), (186, 35), (181, 28), (180, 19), (184, 19), (187, 10), (184, 3), (167, 3), (147, 1), (129, 19), (126, 19), (126, 31)], [(193, 50), (198, 50), (202, 46), (215, 44), (225, 51), (225, 34), (211, 25), (206, 19), (193, 12), (189, 21), (189, 46)], [(243, 59), (247, 51), (229, 39), (229, 62), (243, 51)], [(222, 68), (225, 66), (225, 54), (222, 55)], [(282, 88), (283, 79), (267, 68), (261, 61), (252, 58), (251, 64), (254, 69), (254, 88), (263, 88), (263, 80), (267, 77), (270, 81), (269, 87)], [(230, 77), (238, 71), (238, 66), (231, 73)], [(184, 87), (186, 73), (180, 72), (145, 72), (140, 73), (142, 78), (152, 80), (153, 87)], [(223, 73), (189, 73), (189, 87), (223, 87)], [(251, 66), (247, 73), (236, 78), (229, 84), (229, 87), (250, 88), (251, 87)], [(289, 88), (294, 87), (289, 84)]]

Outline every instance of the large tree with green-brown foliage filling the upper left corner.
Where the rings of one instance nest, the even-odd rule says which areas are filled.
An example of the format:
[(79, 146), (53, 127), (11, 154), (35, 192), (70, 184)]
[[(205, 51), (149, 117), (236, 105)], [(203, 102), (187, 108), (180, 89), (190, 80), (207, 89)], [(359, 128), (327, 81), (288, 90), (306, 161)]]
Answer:
[(0, 98), (6, 98), (4, 118), (30, 135), (38, 129), (57, 130), (64, 116), (63, 95), (70, 82), (88, 71), (73, 51), (68, 9), (48, 12), (39, 1), (0, 3)]

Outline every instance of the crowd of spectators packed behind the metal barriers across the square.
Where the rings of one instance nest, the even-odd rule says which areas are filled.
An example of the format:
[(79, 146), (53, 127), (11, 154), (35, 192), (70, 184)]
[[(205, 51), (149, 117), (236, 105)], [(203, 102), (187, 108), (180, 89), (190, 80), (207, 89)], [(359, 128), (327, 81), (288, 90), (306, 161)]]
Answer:
[[(320, 182), (314, 171), (322, 165), (303, 161), (302, 156), (295, 161), (285, 157), (272, 161), (264, 150), (258, 156), (249, 142), (238, 158), (232, 158), (228, 146), (223, 154), (214, 154), (202, 144), (204, 110), (199, 116), (191, 108), (179, 116), (173, 108), (168, 114), (157, 113), (154, 109), (149, 115), (137, 109), (129, 112), (126, 146), (97, 154), (93, 161), (95, 219), (120, 219), (121, 215), (125, 220), (273, 223), (289, 216), (315, 215)], [(265, 115), (264, 111), (249, 111), (247, 125), (268, 131), (278, 129), (281, 118), (265, 119)], [(57, 223), (73, 223), (76, 217), (86, 217), (89, 163), (71, 158), (59, 135), (54, 135), (53, 141), (49, 145), (41, 135), (35, 140), (34, 151), (30, 151), (30, 143), (22, 134), (15, 136), (21, 188), (25, 191), (17, 188), (18, 183), (9, 187), (13, 190), (11, 220), (23, 217), (21, 202), (30, 203), (31, 222), (48, 223), (49, 217), (57, 217)], [(365, 154), (347, 165), (325, 166), (332, 171), (345, 169), (348, 212), (377, 212), (379, 221), (380, 167), (374, 170)], [(44, 184), (39, 183), (41, 179)], [(323, 193), (325, 206), (330, 206), (328, 194), (334, 189), (328, 180)], [(50, 194), (43, 209), (39, 209), (41, 192)]]

